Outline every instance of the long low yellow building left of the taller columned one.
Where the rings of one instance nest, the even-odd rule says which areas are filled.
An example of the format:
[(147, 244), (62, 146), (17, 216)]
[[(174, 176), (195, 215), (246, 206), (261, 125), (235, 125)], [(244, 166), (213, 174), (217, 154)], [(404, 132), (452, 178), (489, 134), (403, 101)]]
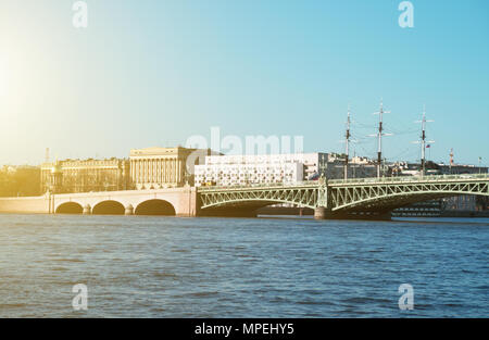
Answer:
[(40, 190), (47, 192), (88, 192), (131, 189), (129, 161), (64, 160), (41, 164)]

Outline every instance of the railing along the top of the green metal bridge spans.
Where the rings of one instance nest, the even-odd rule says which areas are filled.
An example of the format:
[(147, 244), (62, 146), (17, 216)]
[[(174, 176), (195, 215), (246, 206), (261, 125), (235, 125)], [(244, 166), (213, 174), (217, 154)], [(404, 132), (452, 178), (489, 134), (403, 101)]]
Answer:
[[(451, 181), (451, 180), (474, 180), (487, 179), (489, 174), (463, 174), (463, 175), (428, 175), (428, 176), (398, 176), (398, 177), (367, 177), (367, 178), (349, 178), (349, 179), (329, 179), (329, 185), (342, 184), (388, 184), (388, 182), (434, 182), (434, 181)], [(260, 188), (294, 188), (294, 187), (314, 187), (318, 186), (317, 180), (303, 180), (294, 182), (267, 182), (267, 184), (250, 184), (237, 186), (210, 186), (198, 187), (198, 191), (218, 191), (218, 190), (239, 190), (239, 189), (260, 189)]]

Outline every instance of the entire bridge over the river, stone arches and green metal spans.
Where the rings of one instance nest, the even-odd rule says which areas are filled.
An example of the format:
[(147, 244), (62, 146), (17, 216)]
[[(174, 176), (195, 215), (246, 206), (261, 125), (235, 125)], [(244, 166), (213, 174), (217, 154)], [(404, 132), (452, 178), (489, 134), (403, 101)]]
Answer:
[(489, 196), (489, 174), (47, 193), (0, 199), (0, 212), (252, 216), (259, 207), (289, 203), (314, 210), (316, 218), (389, 218), (394, 209), (459, 194)]

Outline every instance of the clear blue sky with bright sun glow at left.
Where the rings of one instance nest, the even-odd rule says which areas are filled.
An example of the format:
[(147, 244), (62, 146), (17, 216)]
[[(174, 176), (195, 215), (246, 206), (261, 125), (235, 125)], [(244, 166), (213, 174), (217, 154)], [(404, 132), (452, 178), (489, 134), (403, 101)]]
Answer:
[[(0, 164), (127, 158), (191, 136), (303, 136), (306, 152), (489, 164), (489, 2), (0, 0)], [(225, 150), (222, 150), (225, 151)]]

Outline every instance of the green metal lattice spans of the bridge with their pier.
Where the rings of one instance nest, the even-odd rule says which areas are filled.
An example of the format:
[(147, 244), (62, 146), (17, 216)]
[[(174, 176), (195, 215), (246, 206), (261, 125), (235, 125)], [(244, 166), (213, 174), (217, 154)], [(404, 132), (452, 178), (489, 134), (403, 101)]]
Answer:
[(385, 216), (394, 209), (459, 194), (489, 196), (489, 174), (334, 179), (294, 184), (200, 187), (200, 210), (258, 209), (290, 203), (317, 218)]

